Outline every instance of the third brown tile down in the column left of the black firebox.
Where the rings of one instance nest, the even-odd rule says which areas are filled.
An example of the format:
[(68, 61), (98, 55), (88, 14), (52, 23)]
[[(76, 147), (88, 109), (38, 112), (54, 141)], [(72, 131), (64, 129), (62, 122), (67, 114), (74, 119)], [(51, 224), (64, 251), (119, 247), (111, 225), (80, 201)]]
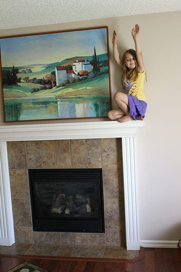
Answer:
[(13, 220), (16, 227), (31, 227), (29, 199), (12, 199)]

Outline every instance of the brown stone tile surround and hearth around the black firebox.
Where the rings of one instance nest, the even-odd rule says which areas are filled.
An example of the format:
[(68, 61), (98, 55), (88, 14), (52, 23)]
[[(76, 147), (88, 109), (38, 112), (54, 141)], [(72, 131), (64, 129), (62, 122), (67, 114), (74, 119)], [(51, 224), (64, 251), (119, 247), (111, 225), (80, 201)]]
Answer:
[[(120, 138), (7, 142), (7, 150), (16, 244), (1, 247), (1, 254), (135, 257), (125, 247)], [(33, 232), (28, 168), (103, 168), (105, 234)]]

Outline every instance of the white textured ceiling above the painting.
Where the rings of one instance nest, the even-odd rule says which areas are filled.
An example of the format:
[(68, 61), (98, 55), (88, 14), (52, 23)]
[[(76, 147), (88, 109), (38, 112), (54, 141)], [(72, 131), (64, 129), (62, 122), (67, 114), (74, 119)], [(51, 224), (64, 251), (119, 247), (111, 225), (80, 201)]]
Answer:
[(0, 29), (181, 10), (181, 0), (0, 0)]

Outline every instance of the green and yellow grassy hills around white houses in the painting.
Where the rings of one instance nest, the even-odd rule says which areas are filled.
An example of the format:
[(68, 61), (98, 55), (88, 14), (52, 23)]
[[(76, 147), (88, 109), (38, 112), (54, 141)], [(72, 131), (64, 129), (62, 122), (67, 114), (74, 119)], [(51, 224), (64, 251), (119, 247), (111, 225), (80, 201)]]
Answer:
[[(99, 61), (107, 60), (107, 53), (97, 56)], [(101, 74), (95, 78), (81, 80), (80, 82), (74, 82), (66, 84), (64, 87), (52, 88), (47, 90), (40, 90), (38, 92), (31, 93), (32, 88), (40, 88), (41, 85), (36, 83), (24, 82), (22, 79), (29, 77), (32, 79), (43, 79), (46, 74), (55, 71), (55, 66), (66, 66), (68, 64), (73, 64), (76, 60), (92, 60), (92, 56), (76, 56), (73, 58), (66, 58), (60, 62), (54, 62), (41, 66), (41, 64), (31, 64), (30, 66), (21, 66), (20, 68), (29, 69), (30, 67), (35, 67), (36, 72), (32, 73), (18, 73), (17, 77), (21, 78), (21, 82), (17, 85), (3, 85), (3, 95), (4, 98), (20, 98), (20, 97), (34, 97), (34, 96), (85, 96), (85, 95), (105, 95), (109, 94), (109, 75), (108, 73)], [(108, 66), (104, 67), (108, 70)], [(33, 68), (31, 68), (33, 71)]]

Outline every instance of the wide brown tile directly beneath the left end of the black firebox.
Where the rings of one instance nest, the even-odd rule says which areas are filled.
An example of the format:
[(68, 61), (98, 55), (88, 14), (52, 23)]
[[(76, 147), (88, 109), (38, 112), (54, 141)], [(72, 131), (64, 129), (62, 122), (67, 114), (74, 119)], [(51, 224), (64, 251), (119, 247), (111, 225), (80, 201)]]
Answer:
[(33, 231), (34, 244), (61, 244), (60, 233)]

